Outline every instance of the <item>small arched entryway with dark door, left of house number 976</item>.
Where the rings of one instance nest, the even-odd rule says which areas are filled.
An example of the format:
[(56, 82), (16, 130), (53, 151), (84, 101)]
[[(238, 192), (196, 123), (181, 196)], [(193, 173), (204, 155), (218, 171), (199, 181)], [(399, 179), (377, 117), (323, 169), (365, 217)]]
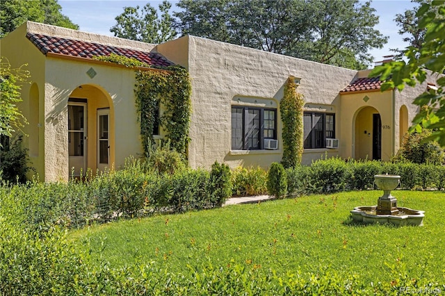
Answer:
[(382, 120), (373, 107), (364, 107), (355, 115), (355, 158), (382, 158)]

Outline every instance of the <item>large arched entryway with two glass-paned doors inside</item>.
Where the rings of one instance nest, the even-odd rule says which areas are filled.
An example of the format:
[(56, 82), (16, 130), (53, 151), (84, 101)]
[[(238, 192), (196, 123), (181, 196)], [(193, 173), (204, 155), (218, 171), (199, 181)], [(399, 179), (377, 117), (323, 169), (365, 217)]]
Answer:
[(113, 101), (103, 88), (79, 85), (72, 91), (67, 129), (70, 176), (88, 168), (104, 170), (114, 162)]

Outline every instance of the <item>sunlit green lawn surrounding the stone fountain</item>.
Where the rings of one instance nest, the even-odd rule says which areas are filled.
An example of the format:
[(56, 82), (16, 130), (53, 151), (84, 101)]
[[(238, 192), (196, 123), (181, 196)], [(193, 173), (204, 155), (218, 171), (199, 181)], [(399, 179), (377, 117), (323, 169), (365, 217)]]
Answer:
[(423, 227), (357, 225), (349, 212), (381, 191), (312, 195), (181, 215), (122, 220), (71, 231), (77, 247), (111, 267), (143, 265), (186, 273), (202, 265), (318, 272), (329, 268), (368, 283), (394, 274), (445, 283), (444, 192), (395, 191), (398, 206), (426, 211)]

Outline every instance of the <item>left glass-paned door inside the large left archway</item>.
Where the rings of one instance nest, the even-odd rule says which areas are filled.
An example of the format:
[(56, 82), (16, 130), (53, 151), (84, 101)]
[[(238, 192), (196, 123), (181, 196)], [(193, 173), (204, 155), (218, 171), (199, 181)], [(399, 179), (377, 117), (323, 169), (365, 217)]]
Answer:
[(68, 103), (68, 165), (70, 176), (86, 172), (86, 103)]

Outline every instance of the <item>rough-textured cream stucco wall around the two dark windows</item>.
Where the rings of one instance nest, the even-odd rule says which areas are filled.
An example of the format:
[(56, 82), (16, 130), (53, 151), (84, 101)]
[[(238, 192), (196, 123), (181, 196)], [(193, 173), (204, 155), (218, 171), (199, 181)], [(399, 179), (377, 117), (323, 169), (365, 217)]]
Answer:
[[(187, 44), (188, 60), (184, 59), (184, 49), (177, 52), (184, 44)], [(278, 150), (231, 150), (231, 106), (279, 106), (289, 76), (301, 79), (298, 92), (304, 94), (305, 101), (327, 108), (339, 106), (339, 90), (357, 74), (355, 70), (193, 36), (166, 42), (156, 49), (188, 68), (192, 77), (192, 140), (188, 147), (192, 167), (210, 167), (214, 161), (224, 161), (231, 167), (268, 167), (273, 161), (281, 161), (281, 120), (277, 126)], [(241, 101), (238, 102), (238, 98)], [(303, 161), (310, 163), (324, 156), (325, 151), (330, 155), (338, 153), (330, 149), (307, 150)]]

